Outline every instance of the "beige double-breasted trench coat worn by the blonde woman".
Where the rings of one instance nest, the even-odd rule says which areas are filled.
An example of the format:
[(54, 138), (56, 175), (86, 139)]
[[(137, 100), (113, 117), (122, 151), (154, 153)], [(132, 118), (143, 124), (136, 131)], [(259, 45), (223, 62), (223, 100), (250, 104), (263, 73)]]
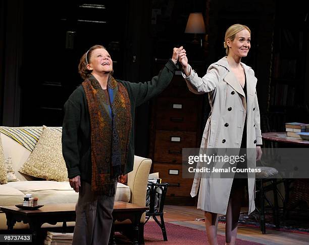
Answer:
[[(201, 149), (239, 149), (246, 116), (247, 148), (255, 149), (256, 144), (262, 144), (260, 110), (255, 90), (257, 79), (249, 66), (243, 63), (241, 66), (246, 75), (246, 97), (236, 76), (230, 72), (226, 57), (213, 63), (202, 78), (198, 77), (190, 66), (190, 75), (186, 77), (183, 74), (191, 92), (208, 92), (209, 95), (212, 112), (203, 132)], [(255, 155), (251, 156), (251, 159), (250, 156), (247, 157), (248, 163), (250, 162), (248, 167), (249, 165), (255, 167)], [(250, 214), (255, 209), (255, 175), (253, 173), (253, 177), (252, 174), (248, 176), (250, 176), (248, 178), (248, 214)], [(194, 197), (197, 194), (199, 187), (197, 208), (225, 215), (232, 183), (233, 178), (209, 178), (202, 173), (196, 173), (191, 196)]]

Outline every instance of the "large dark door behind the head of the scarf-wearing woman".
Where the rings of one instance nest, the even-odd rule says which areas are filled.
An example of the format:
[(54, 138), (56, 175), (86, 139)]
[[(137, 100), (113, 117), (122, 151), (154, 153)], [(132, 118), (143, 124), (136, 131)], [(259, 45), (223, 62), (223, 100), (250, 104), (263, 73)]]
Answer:
[(61, 126), (63, 105), (81, 84), (80, 57), (108, 48), (123, 77), (127, 1), (28, 1), (24, 6), (21, 125)]

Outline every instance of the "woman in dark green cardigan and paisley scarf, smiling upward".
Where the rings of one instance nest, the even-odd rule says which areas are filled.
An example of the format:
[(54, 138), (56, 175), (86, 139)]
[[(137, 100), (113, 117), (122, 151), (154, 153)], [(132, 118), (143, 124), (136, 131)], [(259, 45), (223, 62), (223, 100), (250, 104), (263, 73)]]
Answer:
[(135, 108), (168, 86), (184, 52), (174, 48), (159, 75), (145, 83), (116, 80), (104, 46), (82, 56), (84, 82), (64, 106), (62, 134), (69, 181), (79, 192), (73, 244), (108, 244), (117, 178), (133, 169)]

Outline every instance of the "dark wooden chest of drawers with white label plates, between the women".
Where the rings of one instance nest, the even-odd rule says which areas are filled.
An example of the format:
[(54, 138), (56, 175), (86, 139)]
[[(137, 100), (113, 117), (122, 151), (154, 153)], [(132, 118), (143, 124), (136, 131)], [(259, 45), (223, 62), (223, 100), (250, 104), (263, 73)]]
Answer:
[[(157, 59), (154, 74), (167, 60)], [(203, 62), (190, 62), (200, 76), (205, 72)], [(170, 85), (151, 101), (149, 157), (152, 172), (159, 172), (163, 183), (169, 183), (166, 204), (194, 205), (190, 196), (193, 179), (182, 178), (182, 149), (199, 148), (202, 135), (205, 95), (190, 92), (176, 71)]]

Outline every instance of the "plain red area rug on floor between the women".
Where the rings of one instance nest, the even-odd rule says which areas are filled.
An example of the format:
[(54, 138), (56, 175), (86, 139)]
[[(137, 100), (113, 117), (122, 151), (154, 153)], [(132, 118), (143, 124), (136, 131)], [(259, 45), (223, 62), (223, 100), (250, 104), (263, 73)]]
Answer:
[[(172, 223), (165, 223), (168, 241), (163, 240), (162, 231), (156, 222), (148, 222), (144, 227), (145, 245), (207, 245), (207, 236), (205, 231), (188, 228)], [(130, 241), (116, 233), (116, 243), (129, 244)], [(218, 235), (218, 243), (225, 243), (225, 236)], [(245, 241), (237, 239), (237, 245), (261, 245), (262, 243)]]

